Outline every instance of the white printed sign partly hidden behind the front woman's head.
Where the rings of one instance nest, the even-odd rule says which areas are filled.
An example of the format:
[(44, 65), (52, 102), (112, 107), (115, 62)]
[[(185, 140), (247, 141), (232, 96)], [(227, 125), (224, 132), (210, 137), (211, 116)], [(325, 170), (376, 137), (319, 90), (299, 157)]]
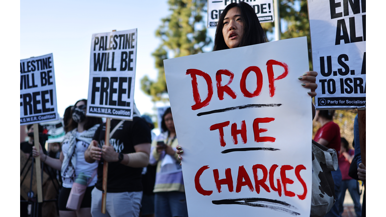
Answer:
[(273, 0), (208, 0), (208, 28), (216, 28), (221, 13), (231, 3), (251, 5), (260, 23), (273, 22)]

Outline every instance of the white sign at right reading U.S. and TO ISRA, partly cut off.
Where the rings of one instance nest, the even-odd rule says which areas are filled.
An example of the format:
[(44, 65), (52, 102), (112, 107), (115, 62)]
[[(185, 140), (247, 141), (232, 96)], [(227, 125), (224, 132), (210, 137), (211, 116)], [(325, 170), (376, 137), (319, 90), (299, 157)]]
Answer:
[(366, 1), (308, 1), (316, 107), (366, 106)]

